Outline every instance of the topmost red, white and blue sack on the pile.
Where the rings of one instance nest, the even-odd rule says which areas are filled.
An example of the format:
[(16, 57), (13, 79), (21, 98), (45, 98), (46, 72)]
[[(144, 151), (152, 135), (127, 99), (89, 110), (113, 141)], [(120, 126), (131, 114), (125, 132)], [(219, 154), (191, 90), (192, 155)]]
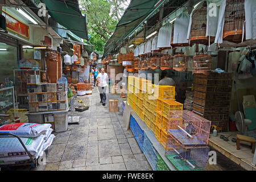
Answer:
[[(36, 124), (36, 123), (14, 123), (0, 126), (0, 133), (10, 133), (19, 137), (38, 137), (51, 127), (51, 124)], [(10, 137), (7, 136), (7, 137)]]

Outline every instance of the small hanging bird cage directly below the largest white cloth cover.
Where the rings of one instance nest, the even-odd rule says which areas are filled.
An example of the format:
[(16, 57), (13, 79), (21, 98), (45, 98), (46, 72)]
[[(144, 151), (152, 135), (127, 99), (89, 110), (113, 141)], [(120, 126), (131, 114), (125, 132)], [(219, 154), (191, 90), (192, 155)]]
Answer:
[(174, 56), (173, 68), (176, 71), (187, 71), (188, 69), (188, 56), (184, 55), (184, 52), (180, 51), (179, 54)]

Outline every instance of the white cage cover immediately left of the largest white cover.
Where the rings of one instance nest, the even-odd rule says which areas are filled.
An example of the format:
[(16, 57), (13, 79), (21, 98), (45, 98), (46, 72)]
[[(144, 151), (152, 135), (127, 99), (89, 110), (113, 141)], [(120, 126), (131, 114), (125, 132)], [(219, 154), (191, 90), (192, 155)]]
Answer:
[(160, 28), (158, 33), (158, 48), (171, 48), (171, 36), (172, 36), (172, 24), (166, 23), (163, 27)]

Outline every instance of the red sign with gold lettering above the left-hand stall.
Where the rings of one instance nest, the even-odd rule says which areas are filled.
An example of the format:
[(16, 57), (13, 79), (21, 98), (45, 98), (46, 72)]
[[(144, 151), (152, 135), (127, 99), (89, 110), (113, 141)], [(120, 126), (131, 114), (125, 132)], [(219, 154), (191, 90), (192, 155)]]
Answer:
[(2, 11), (3, 16), (6, 17), (6, 28), (7, 30), (13, 31), (16, 34), (23, 36), (24, 38), (30, 38), (30, 27), (14, 18), (9, 13)]

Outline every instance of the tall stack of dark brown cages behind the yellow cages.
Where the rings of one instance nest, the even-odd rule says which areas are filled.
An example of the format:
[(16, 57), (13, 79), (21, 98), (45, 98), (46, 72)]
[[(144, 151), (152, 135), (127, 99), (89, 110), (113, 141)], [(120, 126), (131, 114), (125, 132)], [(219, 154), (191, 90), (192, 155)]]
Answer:
[[(232, 74), (195, 74), (193, 112), (216, 123), (222, 132), (228, 131), (229, 106), (232, 94)], [(225, 123), (225, 125), (224, 125)]]

